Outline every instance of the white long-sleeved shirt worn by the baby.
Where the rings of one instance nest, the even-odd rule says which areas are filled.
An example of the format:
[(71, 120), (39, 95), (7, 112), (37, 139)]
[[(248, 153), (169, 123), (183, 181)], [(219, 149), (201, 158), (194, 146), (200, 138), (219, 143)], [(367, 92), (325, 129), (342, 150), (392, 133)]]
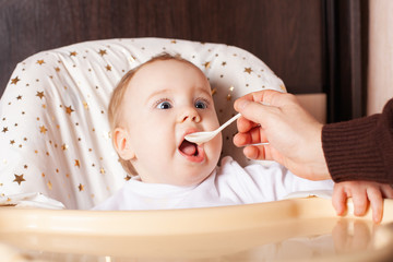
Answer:
[(145, 183), (138, 177), (94, 210), (171, 210), (261, 203), (299, 191), (333, 190), (332, 180), (311, 181), (278, 164), (241, 167), (226, 156), (200, 184)]

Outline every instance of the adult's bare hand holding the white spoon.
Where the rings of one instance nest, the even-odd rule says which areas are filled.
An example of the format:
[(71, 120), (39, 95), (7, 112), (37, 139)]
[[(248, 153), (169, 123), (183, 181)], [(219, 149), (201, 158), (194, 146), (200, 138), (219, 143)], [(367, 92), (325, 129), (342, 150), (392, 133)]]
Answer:
[[(250, 93), (235, 102), (241, 114), (234, 143), (251, 159), (275, 160), (310, 180), (330, 179), (322, 150), (322, 123), (291, 94)], [(250, 145), (269, 142), (267, 145)]]

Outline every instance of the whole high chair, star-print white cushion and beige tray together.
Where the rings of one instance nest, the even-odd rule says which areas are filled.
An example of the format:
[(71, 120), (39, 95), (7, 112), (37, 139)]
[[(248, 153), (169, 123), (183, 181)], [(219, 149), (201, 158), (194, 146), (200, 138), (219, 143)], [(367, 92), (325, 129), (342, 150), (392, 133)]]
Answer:
[[(55, 261), (306, 261), (315, 258), (313, 252), (322, 252), (319, 259), (360, 261), (390, 255), (389, 226), (377, 230), (370, 214), (355, 218), (349, 212), (338, 218), (329, 200), (313, 196), (193, 210), (87, 211), (130, 179), (111, 145), (111, 91), (126, 72), (160, 52), (179, 53), (206, 74), (221, 122), (236, 114), (235, 99), (247, 93), (286, 92), (260, 59), (221, 44), (108, 39), (25, 59), (0, 102), (0, 241)], [(236, 132), (235, 124), (223, 131), (223, 156), (248, 165), (231, 143)], [(391, 205), (385, 201), (383, 224), (393, 219)], [(367, 248), (340, 254), (334, 230), (369, 235)]]

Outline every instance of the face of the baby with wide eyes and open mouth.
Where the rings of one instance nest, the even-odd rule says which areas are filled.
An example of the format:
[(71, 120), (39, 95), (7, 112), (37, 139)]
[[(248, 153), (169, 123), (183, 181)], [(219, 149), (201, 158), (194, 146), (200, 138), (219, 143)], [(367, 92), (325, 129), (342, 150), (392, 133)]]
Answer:
[(131, 162), (142, 181), (191, 186), (217, 165), (222, 135), (196, 145), (184, 135), (218, 128), (205, 75), (178, 60), (155, 61), (131, 79), (122, 105)]

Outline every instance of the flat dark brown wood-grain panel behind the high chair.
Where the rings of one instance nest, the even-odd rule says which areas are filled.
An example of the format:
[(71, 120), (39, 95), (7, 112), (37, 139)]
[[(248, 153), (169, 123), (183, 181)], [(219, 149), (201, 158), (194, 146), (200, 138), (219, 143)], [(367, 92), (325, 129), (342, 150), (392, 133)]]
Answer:
[(289, 92), (320, 93), (321, 0), (0, 0), (0, 94), (16, 62), (78, 41), (157, 36), (224, 43), (265, 61)]

